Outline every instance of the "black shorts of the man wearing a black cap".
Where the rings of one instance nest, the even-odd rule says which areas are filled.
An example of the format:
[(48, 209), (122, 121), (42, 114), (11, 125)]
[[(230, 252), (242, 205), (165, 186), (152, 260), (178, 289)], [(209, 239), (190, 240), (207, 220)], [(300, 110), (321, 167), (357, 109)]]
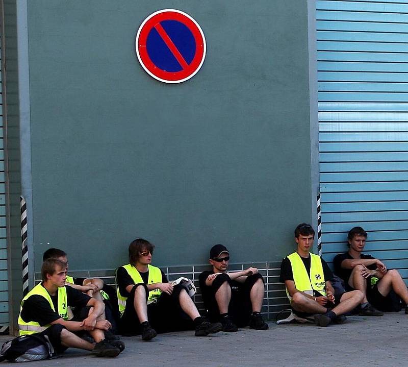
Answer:
[(210, 321), (218, 322), (220, 320), (220, 312), (215, 299), (215, 293), (224, 282), (228, 282), (231, 286), (231, 301), (228, 306), (228, 314), (238, 327), (249, 325), (252, 312), (250, 292), (258, 279), (264, 281), (262, 275), (259, 273), (247, 277), (244, 283), (231, 280), (227, 274), (218, 275), (211, 286), (211, 293), (209, 293), (207, 299), (204, 300)]

